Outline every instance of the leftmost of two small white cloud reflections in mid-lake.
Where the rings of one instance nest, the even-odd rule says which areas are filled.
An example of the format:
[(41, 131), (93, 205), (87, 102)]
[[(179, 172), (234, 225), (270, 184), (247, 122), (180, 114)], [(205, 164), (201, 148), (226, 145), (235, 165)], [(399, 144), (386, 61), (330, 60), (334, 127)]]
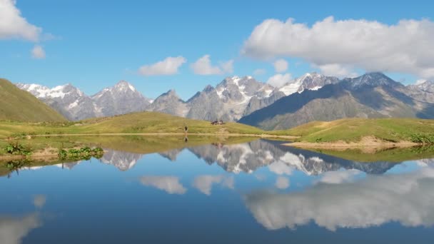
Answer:
[(187, 189), (179, 183), (179, 178), (176, 176), (142, 176), (140, 181), (143, 185), (153, 186), (169, 194), (182, 195), (187, 191)]

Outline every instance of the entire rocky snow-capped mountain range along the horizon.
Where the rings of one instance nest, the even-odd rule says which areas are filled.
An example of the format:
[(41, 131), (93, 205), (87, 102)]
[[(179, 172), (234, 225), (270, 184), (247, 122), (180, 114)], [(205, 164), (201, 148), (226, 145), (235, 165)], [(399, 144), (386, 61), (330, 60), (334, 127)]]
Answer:
[(48, 88), (17, 83), (71, 121), (158, 111), (207, 121), (238, 121), (266, 130), (286, 129), (310, 121), (338, 118), (434, 118), (434, 83), (404, 86), (383, 73), (339, 79), (306, 73), (281, 87), (251, 76), (228, 77), (216, 87), (206, 86), (187, 101), (170, 90), (151, 100), (130, 83), (120, 81), (87, 96), (66, 84)]

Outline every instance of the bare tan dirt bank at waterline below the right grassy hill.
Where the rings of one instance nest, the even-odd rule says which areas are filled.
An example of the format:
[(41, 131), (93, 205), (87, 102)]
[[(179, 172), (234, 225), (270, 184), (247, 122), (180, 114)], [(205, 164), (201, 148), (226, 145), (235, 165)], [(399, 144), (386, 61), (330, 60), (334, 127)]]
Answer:
[(327, 149), (333, 151), (345, 151), (347, 149), (359, 149), (362, 153), (375, 153), (377, 151), (387, 148), (409, 148), (418, 146), (420, 144), (413, 143), (411, 141), (383, 141), (374, 136), (365, 136), (358, 142), (346, 142), (346, 141), (333, 141), (322, 143), (310, 143), (310, 142), (295, 142), (285, 143), (285, 146), (293, 146), (296, 148), (310, 148), (310, 149)]

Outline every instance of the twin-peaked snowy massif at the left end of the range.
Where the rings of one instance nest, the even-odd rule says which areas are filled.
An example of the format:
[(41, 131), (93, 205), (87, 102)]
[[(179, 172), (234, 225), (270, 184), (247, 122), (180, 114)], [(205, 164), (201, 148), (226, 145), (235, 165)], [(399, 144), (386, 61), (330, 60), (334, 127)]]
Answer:
[(147, 98), (126, 81), (104, 88), (94, 96), (87, 96), (69, 83), (54, 88), (24, 83), (17, 83), (16, 86), (29, 91), (71, 121), (144, 111), (150, 104)]

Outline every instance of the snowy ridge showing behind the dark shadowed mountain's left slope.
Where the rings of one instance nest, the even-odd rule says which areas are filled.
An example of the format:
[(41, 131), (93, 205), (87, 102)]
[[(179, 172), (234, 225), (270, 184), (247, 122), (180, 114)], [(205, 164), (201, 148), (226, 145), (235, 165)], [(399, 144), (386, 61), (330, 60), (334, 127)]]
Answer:
[(278, 88), (278, 91), (281, 91), (285, 93), (286, 96), (289, 96), (292, 93), (301, 93), (304, 90), (318, 90), (325, 85), (338, 82), (339, 79), (333, 76), (323, 76), (322, 74), (315, 72), (306, 73), (305, 75), (284, 84)]

